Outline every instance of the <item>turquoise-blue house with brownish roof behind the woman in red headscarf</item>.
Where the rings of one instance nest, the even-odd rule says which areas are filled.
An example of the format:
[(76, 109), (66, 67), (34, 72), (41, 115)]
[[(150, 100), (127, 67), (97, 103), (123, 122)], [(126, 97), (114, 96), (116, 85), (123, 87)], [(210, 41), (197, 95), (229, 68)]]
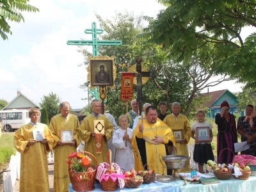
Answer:
[[(205, 103), (205, 106), (209, 109), (209, 113), (205, 114), (208, 118), (214, 118), (216, 113), (220, 113), (220, 104), (223, 100), (226, 100), (229, 104), (229, 112), (234, 114), (237, 112), (238, 100), (236, 95), (228, 90), (219, 90), (216, 92), (201, 93), (203, 96), (210, 96), (210, 100)], [(241, 116), (243, 113), (240, 114)]]

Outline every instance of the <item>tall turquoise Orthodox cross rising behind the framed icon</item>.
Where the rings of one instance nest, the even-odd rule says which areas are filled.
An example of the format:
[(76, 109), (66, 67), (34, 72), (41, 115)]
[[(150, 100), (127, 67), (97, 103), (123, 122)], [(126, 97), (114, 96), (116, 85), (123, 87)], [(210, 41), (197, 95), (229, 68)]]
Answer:
[[(120, 40), (98, 40), (97, 34), (102, 34), (103, 32), (104, 32), (103, 29), (97, 29), (96, 22), (92, 22), (92, 28), (84, 30), (84, 33), (92, 34), (92, 40), (68, 40), (67, 44), (68, 45), (92, 45), (93, 57), (98, 55), (98, 45), (122, 45), (122, 41)], [(93, 88), (93, 90), (90, 90), (88, 88), (88, 92), (91, 93), (95, 97), (95, 99), (99, 99), (99, 92), (97, 87)], [(102, 105), (103, 104), (104, 104), (104, 100), (102, 100)]]

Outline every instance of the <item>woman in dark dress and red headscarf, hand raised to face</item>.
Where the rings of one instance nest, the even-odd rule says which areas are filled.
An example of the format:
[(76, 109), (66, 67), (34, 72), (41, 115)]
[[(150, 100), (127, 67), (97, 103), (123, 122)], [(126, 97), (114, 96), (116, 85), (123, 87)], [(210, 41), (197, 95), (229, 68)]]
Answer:
[[(227, 101), (221, 103), (221, 113), (216, 114), (215, 124), (218, 125), (217, 156), (218, 163), (232, 163), (235, 153), (234, 143), (237, 143), (236, 120), (229, 113)], [(222, 152), (223, 151), (223, 152)]]

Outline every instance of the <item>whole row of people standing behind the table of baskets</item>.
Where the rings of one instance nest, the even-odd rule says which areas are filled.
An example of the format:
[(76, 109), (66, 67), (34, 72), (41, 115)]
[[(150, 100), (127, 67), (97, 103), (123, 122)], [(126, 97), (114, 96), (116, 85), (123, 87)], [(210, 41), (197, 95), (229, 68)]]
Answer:
[[(54, 191), (68, 191), (70, 183), (68, 164), (66, 159), (69, 154), (78, 150), (90, 152), (97, 159), (97, 163), (106, 162), (108, 149), (112, 151), (112, 161), (119, 164), (125, 171), (143, 170), (147, 164), (155, 173), (172, 175), (172, 170), (163, 170), (163, 160), (159, 155), (189, 156), (188, 143), (190, 138), (195, 140), (193, 159), (198, 163), (198, 171), (203, 173), (204, 163), (209, 159), (214, 160), (211, 141), (213, 138), (212, 125), (205, 122), (204, 111), (197, 111), (196, 122), (189, 124), (188, 118), (180, 114), (179, 102), (173, 102), (172, 113), (167, 115), (168, 105), (159, 102), (160, 113), (157, 108), (149, 103), (143, 105), (143, 113), (138, 102), (131, 101), (131, 111), (120, 115), (119, 125), (109, 113), (102, 114), (103, 108), (99, 100), (92, 100), (92, 114), (80, 122), (77, 116), (70, 114), (68, 102), (60, 103), (60, 114), (52, 117), (49, 127), (38, 123), (40, 111), (36, 108), (29, 109), (31, 122), (20, 127), (15, 132), (14, 145), (21, 154), (20, 162), (20, 191), (49, 191), (47, 154), (54, 152)], [(234, 152), (234, 143), (237, 142), (237, 132), (241, 140), (250, 143), (250, 149), (241, 152), (256, 156), (256, 113), (252, 105), (246, 106), (245, 116), (237, 122), (234, 115), (229, 113), (227, 101), (221, 103), (221, 113), (215, 116), (218, 125), (217, 155), (218, 163), (231, 163)], [(104, 132), (95, 132), (95, 122), (104, 127)], [(103, 122), (103, 123), (102, 123)], [(44, 130), (44, 138), (37, 141), (33, 138), (33, 130)], [(198, 127), (204, 127), (199, 133)], [(206, 129), (205, 129), (206, 127)], [(72, 130), (72, 141), (61, 140), (61, 130)], [(208, 132), (207, 132), (208, 131)], [(200, 137), (200, 133), (205, 136)], [(92, 158), (92, 164), (96, 164)], [(187, 161), (184, 168), (178, 172), (190, 172)]]

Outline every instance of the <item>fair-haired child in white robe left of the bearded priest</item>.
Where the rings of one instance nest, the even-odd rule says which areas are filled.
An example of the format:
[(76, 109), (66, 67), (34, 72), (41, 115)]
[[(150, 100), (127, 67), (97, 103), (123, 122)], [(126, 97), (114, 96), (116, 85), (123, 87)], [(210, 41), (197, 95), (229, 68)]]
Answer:
[[(134, 156), (131, 145), (132, 129), (127, 128), (127, 116), (121, 115), (119, 117), (120, 128), (114, 132), (113, 145), (116, 148), (116, 163), (129, 172), (134, 168)], [(127, 129), (127, 133), (126, 133)], [(125, 143), (127, 146), (125, 147)]]

